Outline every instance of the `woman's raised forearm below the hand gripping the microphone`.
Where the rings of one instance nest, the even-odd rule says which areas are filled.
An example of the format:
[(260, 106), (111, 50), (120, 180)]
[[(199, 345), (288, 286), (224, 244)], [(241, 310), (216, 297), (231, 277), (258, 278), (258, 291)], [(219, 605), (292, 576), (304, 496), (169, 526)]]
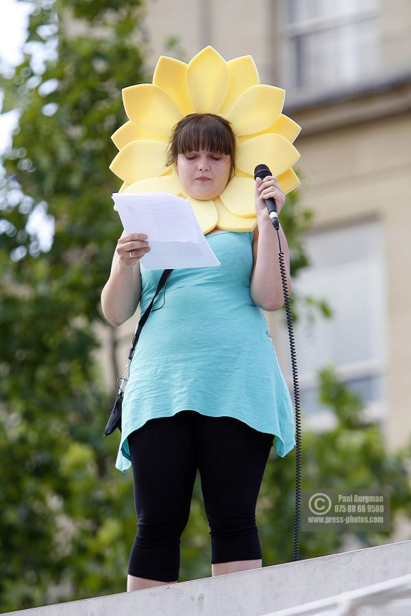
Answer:
[[(281, 224), (278, 229), (286, 266), (287, 293), (291, 292), (290, 253)], [(258, 216), (258, 250), (256, 267), (251, 279), (251, 297), (264, 310), (278, 310), (284, 305), (281, 271), (279, 269), (277, 231), (269, 218)]]

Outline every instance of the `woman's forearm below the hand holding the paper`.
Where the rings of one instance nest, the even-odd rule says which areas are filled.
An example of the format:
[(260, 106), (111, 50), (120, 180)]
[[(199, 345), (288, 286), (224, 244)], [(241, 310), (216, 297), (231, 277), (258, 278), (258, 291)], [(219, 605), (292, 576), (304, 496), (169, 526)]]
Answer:
[(122, 268), (117, 260), (101, 292), (103, 315), (114, 327), (122, 325), (134, 315), (140, 296), (140, 263), (133, 268)]

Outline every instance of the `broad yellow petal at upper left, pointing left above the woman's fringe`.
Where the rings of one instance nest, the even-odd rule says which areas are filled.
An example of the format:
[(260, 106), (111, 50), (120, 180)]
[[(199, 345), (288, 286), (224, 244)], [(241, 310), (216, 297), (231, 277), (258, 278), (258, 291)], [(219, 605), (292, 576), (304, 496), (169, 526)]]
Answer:
[(138, 84), (123, 88), (122, 92), (127, 117), (146, 131), (168, 137), (182, 119), (182, 111), (159, 86)]

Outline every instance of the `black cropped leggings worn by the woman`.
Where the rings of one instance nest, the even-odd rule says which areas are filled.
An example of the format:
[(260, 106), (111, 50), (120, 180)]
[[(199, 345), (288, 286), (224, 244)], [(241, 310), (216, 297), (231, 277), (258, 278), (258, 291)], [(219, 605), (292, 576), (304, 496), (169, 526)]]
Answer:
[(262, 559), (256, 503), (274, 435), (230, 417), (180, 411), (128, 437), (137, 533), (128, 573), (175, 582), (199, 469), (211, 562)]

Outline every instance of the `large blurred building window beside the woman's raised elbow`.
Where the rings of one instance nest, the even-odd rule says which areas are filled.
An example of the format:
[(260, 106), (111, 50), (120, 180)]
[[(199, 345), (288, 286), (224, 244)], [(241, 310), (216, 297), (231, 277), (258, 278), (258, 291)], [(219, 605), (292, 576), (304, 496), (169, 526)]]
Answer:
[[(316, 420), (332, 415), (318, 399), (318, 372), (331, 363), (338, 377), (364, 401), (366, 416), (384, 415), (386, 290), (382, 227), (379, 221), (312, 233), (306, 237), (310, 266), (292, 281), (299, 298), (323, 299), (334, 316), (303, 308), (294, 324), (301, 411)], [(301, 302), (299, 302), (301, 306)], [(288, 331), (280, 346), (287, 356), (284, 370), (292, 392)], [(321, 420), (323, 422), (323, 420)], [(323, 423), (325, 426), (325, 424)]]

